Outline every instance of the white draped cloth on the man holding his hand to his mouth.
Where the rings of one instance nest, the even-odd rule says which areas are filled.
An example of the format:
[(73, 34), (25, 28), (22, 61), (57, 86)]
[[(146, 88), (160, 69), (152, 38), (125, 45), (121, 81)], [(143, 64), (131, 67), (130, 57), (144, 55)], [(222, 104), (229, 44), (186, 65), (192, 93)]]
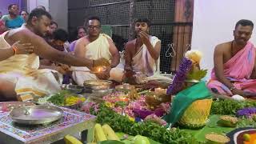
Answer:
[[(150, 43), (153, 47), (157, 42), (160, 42), (157, 37), (150, 36)], [(137, 82), (142, 83), (144, 78), (160, 74), (160, 57), (155, 61), (147, 50), (146, 45), (143, 44), (134, 58), (132, 58), (132, 68), (136, 73)]]

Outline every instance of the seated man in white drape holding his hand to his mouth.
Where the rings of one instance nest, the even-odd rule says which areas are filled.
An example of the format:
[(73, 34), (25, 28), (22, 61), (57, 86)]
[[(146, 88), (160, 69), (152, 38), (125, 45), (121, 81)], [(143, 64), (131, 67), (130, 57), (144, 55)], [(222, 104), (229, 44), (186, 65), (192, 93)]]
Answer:
[(141, 83), (142, 78), (160, 74), (161, 42), (151, 36), (150, 21), (139, 18), (135, 22), (136, 37), (127, 42), (125, 47), (125, 81), (135, 84)]

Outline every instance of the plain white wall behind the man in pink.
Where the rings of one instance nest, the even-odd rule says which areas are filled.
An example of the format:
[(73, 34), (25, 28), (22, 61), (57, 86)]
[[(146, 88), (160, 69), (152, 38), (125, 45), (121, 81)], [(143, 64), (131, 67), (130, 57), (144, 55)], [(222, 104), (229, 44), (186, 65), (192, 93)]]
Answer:
[(194, 20), (191, 48), (201, 50), (201, 66), (210, 70), (214, 66), (214, 46), (234, 39), (234, 25), (240, 19), (254, 22), (250, 41), (256, 45), (255, 0), (194, 0)]

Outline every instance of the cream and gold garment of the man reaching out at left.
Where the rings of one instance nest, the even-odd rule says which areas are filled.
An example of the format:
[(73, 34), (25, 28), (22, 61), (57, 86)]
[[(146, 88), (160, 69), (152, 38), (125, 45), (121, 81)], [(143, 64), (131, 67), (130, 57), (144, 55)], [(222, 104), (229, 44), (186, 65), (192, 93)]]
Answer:
[[(10, 47), (4, 39), (7, 33), (8, 31), (0, 35), (0, 48)], [(54, 70), (38, 70), (38, 67), (38, 55), (16, 54), (0, 61), (0, 78), (16, 84), (15, 91), (18, 95), (42, 97), (57, 93), (60, 86), (52, 73)]]

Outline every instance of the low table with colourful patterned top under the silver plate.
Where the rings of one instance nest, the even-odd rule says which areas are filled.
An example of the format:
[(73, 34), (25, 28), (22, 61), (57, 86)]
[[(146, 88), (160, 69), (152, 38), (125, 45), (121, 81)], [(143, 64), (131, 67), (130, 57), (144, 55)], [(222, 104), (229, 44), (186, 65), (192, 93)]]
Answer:
[[(17, 106), (20, 103), (15, 102), (7, 104), (0, 102), (0, 108), (3, 105)], [(82, 132), (82, 141), (86, 140), (86, 132), (95, 124), (94, 115), (70, 110), (61, 107), (64, 111), (62, 119), (47, 125), (24, 126), (12, 122), (9, 117), (10, 111), (1, 111), (0, 109), (0, 143), (18, 144), (18, 143), (52, 143), (64, 138), (66, 134), (78, 134)]]

